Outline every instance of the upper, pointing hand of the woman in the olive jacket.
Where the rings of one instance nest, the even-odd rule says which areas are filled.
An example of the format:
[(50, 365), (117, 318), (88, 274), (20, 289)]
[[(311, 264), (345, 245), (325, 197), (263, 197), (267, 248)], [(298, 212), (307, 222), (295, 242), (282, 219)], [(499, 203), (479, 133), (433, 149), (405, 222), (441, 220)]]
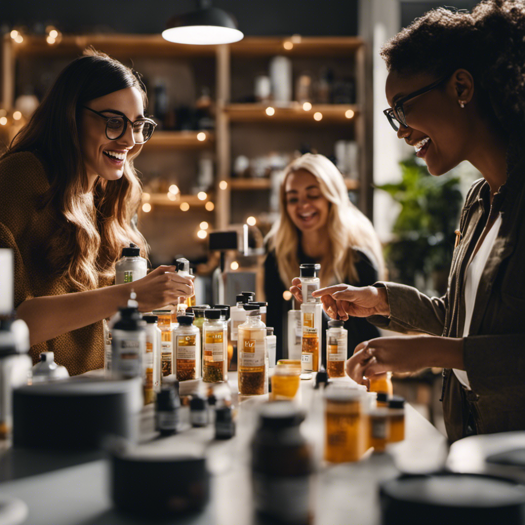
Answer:
[[(295, 279), (293, 281), (295, 281)], [(292, 291), (292, 288), (290, 288), (290, 291)], [(324, 311), (333, 319), (346, 321), (349, 316), (369, 317), (390, 315), (386, 288), (335, 285), (320, 288), (314, 291), (312, 296), (321, 298)]]

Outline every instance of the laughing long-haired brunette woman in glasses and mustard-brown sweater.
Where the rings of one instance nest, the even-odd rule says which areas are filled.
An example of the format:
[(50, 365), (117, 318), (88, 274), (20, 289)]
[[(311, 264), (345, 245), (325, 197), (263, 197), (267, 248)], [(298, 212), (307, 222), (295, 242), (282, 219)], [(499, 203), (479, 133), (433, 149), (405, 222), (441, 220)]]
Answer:
[(71, 375), (103, 367), (102, 319), (132, 289), (141, 311), (193, 293), (171, 266), (108, 286), (123, 247), (148, 250), (132, 221), (142, 194), (133, 159), (155, 129), (147, 101), (137, 73), (88, 50), (0, 158), (0, 248), (14, 253), (16, 313), (33, 359), (53, 351)]

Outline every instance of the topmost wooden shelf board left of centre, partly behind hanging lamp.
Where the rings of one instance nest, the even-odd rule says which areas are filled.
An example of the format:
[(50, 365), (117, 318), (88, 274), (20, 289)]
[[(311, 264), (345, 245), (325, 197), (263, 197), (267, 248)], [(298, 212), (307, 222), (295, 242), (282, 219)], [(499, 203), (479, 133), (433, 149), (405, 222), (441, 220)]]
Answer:
[(15, 54), (24, 57), (79, 55), (87, 46), (115, 57), (213, 57), (216, 53), (216, 46), (173, 44), (161, 35), (64, 35), (53, 45), (45, 36), (25, 35), (22, 43), (13, 42)]

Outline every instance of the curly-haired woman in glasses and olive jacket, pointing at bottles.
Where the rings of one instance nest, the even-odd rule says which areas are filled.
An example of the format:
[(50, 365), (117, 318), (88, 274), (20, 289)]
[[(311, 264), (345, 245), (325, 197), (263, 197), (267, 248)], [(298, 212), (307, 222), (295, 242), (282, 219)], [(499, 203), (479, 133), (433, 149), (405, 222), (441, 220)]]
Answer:
[(525, 429), (524, 35), (522, 0), (488, 0), (472, 13), (432, 10), (381, 52), (397, 136), (433, 175), (465, 160), (482, 175), (461, 213), (445, 296), (391, 282), (314, 293), (333, 317), (425, 334), (361, 343), (347, 371), (366, 383), (443, 367), (450, 441)]

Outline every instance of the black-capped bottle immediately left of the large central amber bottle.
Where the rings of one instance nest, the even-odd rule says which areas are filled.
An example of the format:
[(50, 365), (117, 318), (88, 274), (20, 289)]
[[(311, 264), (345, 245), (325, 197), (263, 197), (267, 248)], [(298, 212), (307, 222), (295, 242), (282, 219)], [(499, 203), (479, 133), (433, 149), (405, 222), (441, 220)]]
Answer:
[(204, 311), (202, 379), (206, 383), (228, 380), (228, 328), (225, 320), (220, 319), (220, 313), (215, 308)]

